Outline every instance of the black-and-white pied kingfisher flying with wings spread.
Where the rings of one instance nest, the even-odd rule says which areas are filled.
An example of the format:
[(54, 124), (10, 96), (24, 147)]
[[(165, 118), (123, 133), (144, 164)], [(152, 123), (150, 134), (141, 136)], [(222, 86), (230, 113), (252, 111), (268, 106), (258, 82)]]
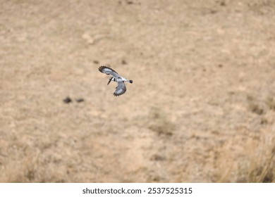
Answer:
[(118, 82), (118, 86), (116, 87), (114, 96), (120, 96), (121, 94), (124, 94), (126, 92), (126, 85), (124, 84), (124, 82), (130, 82), (130, 84), (133, 83), (133, 80), (127, 80), (126, 78), (121, 77), (121, 75), (118, 75), (118, 72), (104, 65), (100, 66), (98, 70), (102, 73), (105, 73), (106, 75), (114, 76), (110, 78), (107, 85), (109, 85), (111, 81)]

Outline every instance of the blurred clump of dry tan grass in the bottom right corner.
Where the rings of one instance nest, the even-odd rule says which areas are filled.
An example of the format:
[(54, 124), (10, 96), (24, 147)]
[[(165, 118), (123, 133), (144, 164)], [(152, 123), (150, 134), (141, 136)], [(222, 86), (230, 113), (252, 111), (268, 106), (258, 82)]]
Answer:
[(261, 141), (248, 140), (238, 157), (228, 150), (220, 150), (214, 182), (275, 182), (274, 144), (274, 136)]

